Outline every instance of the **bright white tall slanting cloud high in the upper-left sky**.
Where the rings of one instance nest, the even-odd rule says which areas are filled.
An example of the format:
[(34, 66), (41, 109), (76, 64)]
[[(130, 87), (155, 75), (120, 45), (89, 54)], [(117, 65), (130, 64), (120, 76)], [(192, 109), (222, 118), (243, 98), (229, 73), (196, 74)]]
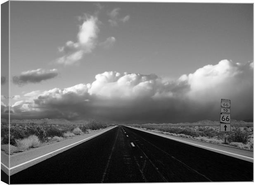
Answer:
[(91, 53), (97, 45), (97, 37), (100, 29), (97, 16), (90, 16), (85, 14), (84, 17), (79, 17), (83, 20), (82, 25), (79, 25), (79, 32), (77, 34), (77, 42), (68, 41), (58, 50), (63, 54), (62, 57), (57, 58), (57, 64), (73, 65), (81, 61), (83, 55)]

